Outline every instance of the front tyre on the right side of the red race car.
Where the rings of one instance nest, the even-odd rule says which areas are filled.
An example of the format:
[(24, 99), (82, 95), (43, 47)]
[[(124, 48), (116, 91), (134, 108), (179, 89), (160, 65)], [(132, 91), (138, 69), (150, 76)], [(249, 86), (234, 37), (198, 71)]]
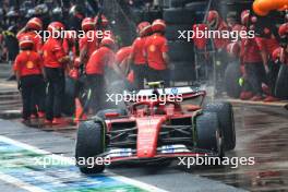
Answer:
[(196, 146), (224, 156), (221, 133), (216, 112), (204, 112), (196, 117)]

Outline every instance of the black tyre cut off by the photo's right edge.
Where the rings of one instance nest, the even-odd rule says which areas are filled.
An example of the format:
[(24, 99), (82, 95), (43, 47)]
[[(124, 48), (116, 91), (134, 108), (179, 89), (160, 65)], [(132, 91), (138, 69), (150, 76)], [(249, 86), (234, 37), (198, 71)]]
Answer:
[(275, 95), (281, 99), (288, 99), (288, 65), (281, 64), (276, 81)]

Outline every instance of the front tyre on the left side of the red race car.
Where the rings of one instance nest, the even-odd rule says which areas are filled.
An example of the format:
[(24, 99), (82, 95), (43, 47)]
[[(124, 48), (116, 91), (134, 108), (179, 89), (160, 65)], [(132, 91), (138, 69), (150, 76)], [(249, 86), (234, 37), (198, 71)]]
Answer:
[(92, 158), (105, 151), (105, 128), (101, 122), (85, 121), (80, 123), (76, 139), (75, 158), (83, 173), (98, 173), (104, 164), (91, 165)]

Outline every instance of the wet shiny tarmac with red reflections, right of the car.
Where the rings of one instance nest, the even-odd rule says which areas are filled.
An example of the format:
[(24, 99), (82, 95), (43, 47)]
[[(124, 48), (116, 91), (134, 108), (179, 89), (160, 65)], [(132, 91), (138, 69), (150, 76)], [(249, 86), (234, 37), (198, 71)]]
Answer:
[(188, 172), (249, 191), (288, 191), (288, 111), (271, 106), (235, 106), (237, 147), (231, 157), (254, 157), (255, 165), (194, 167)]

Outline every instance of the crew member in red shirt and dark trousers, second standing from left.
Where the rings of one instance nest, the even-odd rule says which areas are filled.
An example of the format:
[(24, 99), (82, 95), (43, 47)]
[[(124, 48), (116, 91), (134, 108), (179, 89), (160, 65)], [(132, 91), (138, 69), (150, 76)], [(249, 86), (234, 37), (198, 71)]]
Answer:
[[(52, 22), (48, 25), (48, 31), (57, 33), (64, 29), (64, 25), (60, 22)], [(60, 124), (61, 119), (61, 100), (64, 92), (64, 69), (69, 62), (69, 56), (63, 49), (63, 38), (50, 37), (44, 45), (44, 67), (47, 87), (46, 99), (46, 123)]]

